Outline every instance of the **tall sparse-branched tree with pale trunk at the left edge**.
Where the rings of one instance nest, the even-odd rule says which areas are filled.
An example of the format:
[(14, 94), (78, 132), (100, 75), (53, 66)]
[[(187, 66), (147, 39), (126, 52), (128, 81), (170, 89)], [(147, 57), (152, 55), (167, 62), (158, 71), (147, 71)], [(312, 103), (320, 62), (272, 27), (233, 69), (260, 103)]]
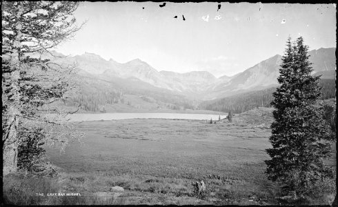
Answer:
[(18, 144), (21, 137), (26, 137), (20, 136), (20, 130), (30, 128), (37, 132), (34, 128), (43, 126), (48, 142), (63, 146), (74, 135), (64, 124), (65, 130), (54, 130), (53, 126), (61, 125), (60, 121), (44, 115), (54, 112), (61, 116), (63, 112), (50, 106), (64, 101), (72, 87), (74, 67), (51, 60), (56, 55), (50, 49), (74, 37), (81, 28), (73, 17), (78, 6), (78, 2), (72, 1), (1, 3), (3, 175), (17, 171)]

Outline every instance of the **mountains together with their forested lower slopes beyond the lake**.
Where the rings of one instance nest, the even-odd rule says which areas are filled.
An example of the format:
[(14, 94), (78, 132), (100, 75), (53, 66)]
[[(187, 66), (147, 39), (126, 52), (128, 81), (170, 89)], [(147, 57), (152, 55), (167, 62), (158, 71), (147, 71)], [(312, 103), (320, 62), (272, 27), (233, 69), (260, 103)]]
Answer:
[[(55, 61), (75, 66), (72, 79), (77, 92), (62, 106), (81, 105), (80, 112), (244, 112), (257, 106), (269, 107), (281, 63), (281, 55), (275, 55), (232, 77), (217, 78), (206, 71), (158, 71), (140, 59), (118, 63), (89, 52), (74, 57), (52, 53), (62, 57)], [(322, 99), (335, 97), (335, 48), (311, 50), (309, 55), (313, 75), (321, 75)], [(243, 101), (249, 97), (250, 101)], [(218, 107), (217, 101), (224, 100), (231, 104)]]

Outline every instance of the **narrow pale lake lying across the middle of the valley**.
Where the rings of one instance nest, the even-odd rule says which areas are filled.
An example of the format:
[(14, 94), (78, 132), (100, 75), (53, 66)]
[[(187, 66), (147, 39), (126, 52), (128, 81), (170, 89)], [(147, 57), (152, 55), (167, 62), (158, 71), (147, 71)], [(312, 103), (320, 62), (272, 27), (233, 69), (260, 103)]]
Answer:
[[(101, 114), (73, 114), (67, 116), (69, 121), (99, 121), (119, 119), (193, 119), (193, 120), (218, 120), (219, 115), (206, 114), (181, 114), (181, 113), (101, 113)], [(221, 115), (221, 119), (226, 115)]]

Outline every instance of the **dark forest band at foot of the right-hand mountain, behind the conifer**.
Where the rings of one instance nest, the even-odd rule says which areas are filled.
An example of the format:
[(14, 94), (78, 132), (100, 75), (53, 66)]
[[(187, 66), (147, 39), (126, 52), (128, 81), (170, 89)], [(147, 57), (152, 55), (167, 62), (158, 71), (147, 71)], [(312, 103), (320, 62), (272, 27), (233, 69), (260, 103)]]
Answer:
[[(320, 86), (322, 87), (321, 99), (335, 98), (335, 80), (321, 79)], [(223, 99), (204, 101), (200, 104), (200, 108), (221, 112), (229, 112), (232, 110), (232, 112), (241, 113), (257, 107), (270, 107), (272, 92), (275, 90), (276, 88), (268, 88), (265, 90), (241, 93)]]

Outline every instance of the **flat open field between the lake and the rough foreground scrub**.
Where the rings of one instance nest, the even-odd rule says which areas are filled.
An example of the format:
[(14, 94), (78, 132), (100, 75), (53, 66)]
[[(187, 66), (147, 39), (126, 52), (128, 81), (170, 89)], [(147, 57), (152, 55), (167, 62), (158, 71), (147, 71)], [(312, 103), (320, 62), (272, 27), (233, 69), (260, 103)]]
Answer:
[[(268, 159), (264, 149), (270, 147), (268, 128), (132, 119), (88, 121), (78, 129), (88, 134), (82, 145), (73, 144), (61, 155), (59, 150), (49, 150), (48, 155), (74, 180), (84, 180), (83, 194), (106, 192), (118, 184), (130, 189), (125, 196), (143, 199), (150, 193), (149, 204), (157, 204), (163, 201), (155, 197), (168, 193), (188, 197), (190, 183), (199, 179), (215, 193), (215, 201), (230, 199), (234, 193), (246, 200), (252, 195), (268, 199), (275, 191), (263, 173), (264, 159)], [(95, 186), (97, 177), (102, 180)]]

